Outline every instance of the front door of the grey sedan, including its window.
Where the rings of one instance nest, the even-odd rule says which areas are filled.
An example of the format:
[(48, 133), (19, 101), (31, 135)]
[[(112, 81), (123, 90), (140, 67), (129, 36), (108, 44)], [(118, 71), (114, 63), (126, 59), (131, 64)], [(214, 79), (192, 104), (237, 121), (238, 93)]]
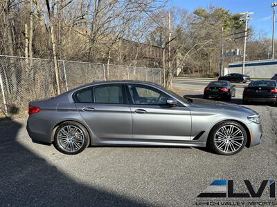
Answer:
[(132, 113), (132, 139), (147, 141), (189, 141), (190, 110), (179, 103), (169, 106), (169, 95), (152, 86), (127, 84)]

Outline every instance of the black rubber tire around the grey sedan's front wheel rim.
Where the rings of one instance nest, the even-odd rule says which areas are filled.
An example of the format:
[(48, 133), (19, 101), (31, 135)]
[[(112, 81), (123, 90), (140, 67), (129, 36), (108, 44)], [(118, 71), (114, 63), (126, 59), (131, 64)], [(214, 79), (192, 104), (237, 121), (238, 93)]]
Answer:
[[(244, 136), (243, 144), (240, 147), (240, 149), (235, 152), (222, 152), (219, 149), (217, 149), (217, 147), (215, 146), (215, 133), (217, 132), (217, 130), (222, 128), (222, 126), (230, 125), (230, 124), (237, 126), (238, 128), (240, 128), (240, 130), (242, 130), (242, 133)], [(222, 123), (217, 124), (217, 126), (215, 126), (215, 128), (213, 128), (213, 131), (211, 132), (211, 137), (209, 137), (208, 139), (208, 146), (210, 146), (212, 150), (219, 155), (235, 155), (238, 152), (240, 152), (240, 150), (242, 150), (246, 144), (247, 144), (247, 132), (244, 129), (244, 127), (236, 121), (223, 121)]]

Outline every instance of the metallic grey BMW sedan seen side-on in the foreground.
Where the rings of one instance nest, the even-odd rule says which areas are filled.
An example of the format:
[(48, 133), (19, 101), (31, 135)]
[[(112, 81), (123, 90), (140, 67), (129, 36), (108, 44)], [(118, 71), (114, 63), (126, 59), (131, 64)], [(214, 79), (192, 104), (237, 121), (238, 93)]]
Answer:
[(28, 134), (78, 154), (87, 146), (208, 147), (234, 155), (262, 142), (257, 112), (224, 102), (195, 103), (157, 84), (98, 81), (29, 103)]

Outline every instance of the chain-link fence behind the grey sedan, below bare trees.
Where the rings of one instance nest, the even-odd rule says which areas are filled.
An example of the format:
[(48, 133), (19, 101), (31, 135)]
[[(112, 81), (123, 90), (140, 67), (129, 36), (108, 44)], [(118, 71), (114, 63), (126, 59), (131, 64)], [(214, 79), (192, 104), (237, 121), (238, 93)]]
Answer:
[[(66, 92), (93, 80), (140, 80), (162, 84), (161, 68), (116, 66), (78, 61), (58, 61), (60, 88)], [(0, 55), (1, 111), (28, 110), (28, 102), (56, 95), (53, 60)]]

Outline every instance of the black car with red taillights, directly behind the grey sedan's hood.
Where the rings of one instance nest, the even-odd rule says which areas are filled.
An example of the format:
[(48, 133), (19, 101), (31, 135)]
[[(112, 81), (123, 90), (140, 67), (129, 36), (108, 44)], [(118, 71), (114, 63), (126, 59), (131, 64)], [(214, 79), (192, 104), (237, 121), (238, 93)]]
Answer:
[(235, 97), (235, 86), (229, 81), (211, 81), (204, 89), (204, 99), (217, 98), (231, 100)]

